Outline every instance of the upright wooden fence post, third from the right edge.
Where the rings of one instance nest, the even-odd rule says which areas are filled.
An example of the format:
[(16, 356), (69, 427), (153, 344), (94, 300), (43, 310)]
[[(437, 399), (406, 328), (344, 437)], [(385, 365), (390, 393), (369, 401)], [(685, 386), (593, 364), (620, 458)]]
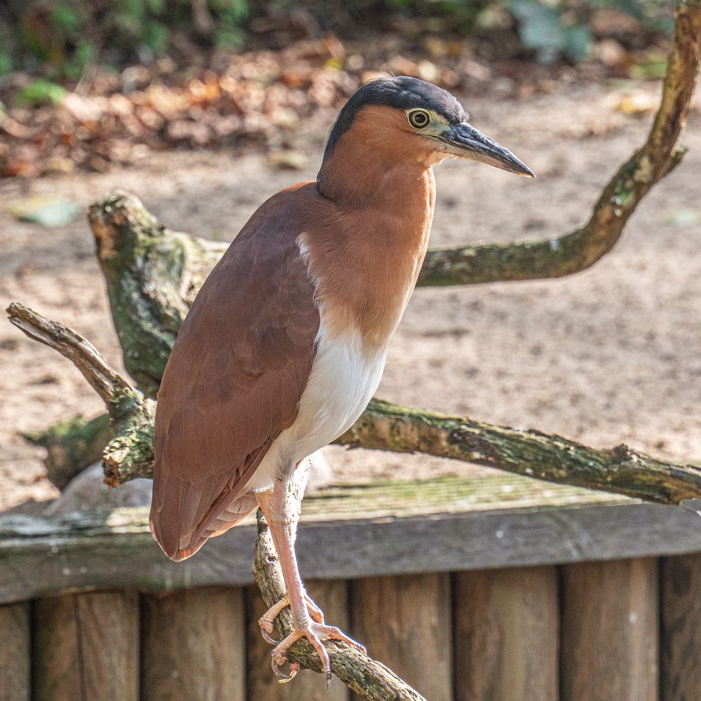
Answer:
[(558, 701), (553, 566), (453, 576), (455, 701)]

